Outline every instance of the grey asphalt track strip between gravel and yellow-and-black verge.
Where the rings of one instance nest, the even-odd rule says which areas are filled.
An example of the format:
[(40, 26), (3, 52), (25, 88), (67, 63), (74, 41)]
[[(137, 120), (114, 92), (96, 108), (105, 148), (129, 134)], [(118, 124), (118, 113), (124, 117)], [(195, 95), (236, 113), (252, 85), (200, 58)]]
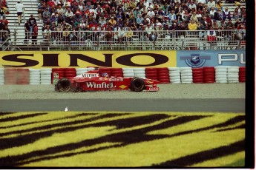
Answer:
[(0, 112), (245, 112), (245, 99), (27, 99), (0, 100)]

